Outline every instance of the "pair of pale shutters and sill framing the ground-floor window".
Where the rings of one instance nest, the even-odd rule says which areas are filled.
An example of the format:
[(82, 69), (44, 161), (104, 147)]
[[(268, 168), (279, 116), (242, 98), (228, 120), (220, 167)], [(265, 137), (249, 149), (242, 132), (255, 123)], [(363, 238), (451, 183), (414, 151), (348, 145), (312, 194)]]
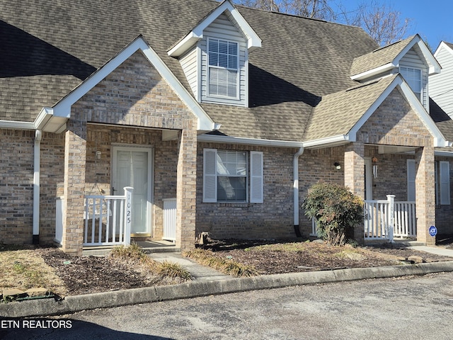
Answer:
[(246, 152), (246, 154), (247, 154), (246, 200), (218, 202), (217, 149), (203, 150), (203, 203), (263, 203), (264, 201), (263, 152), (251, 151)]

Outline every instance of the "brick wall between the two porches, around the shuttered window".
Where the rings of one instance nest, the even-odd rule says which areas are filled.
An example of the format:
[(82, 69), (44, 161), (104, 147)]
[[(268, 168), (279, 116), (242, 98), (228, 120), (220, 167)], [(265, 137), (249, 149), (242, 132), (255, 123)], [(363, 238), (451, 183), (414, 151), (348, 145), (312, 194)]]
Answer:
[[(264, 203), (202, 203), (203, 149), (263, 152)], [(198, 143), (197, 229), (211, 237), (273, 239), (295, 237), (293, 220), (293, 165), (297, 149)], [(305, 150), (299, 157), (299, 203), (318, 181), (343, 183), (343, 170), (333, 163), (343, 159), (343, 148)], [(299, 208), (299, 229), (308, 237), (311, 220)]]

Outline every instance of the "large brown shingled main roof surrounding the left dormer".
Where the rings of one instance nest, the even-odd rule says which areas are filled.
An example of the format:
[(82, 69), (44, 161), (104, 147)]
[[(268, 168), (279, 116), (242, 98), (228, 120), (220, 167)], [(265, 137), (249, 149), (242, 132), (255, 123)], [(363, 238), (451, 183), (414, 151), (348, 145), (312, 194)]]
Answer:
[[(166, 51), (218, 5), (1, 0), (0, 119), (33, 120), (140, 34), (190, 89), (178, 60)], [(249, 55), (251, 107), (202, 107), (227, 135), (301, 140), (321, 96), (355, 86), (348, 77), (352, 60), (377, 45), (360, 28), (237, 8), (263, 40)]]

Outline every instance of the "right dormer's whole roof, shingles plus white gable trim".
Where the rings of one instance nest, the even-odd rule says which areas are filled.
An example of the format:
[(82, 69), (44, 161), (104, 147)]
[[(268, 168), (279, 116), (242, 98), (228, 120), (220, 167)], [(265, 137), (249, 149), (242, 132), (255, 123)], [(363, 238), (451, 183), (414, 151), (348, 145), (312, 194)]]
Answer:
[(420, 35), (417, 34), (355, 58), (352, 61), (350, 77), (353, 80), (362, 81), (377, 74), (389, 72), (398, 67), (401, 58), (415, 46), (418, 47), (418, 51), (428, 64), (429, 74), (439, 73), (440, 64), (426, 47)]

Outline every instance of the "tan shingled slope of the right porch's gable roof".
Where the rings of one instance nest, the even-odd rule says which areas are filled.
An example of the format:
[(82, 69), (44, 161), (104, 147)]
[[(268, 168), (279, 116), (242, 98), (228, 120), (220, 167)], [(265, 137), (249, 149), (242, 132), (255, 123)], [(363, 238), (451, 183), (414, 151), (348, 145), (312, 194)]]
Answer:
[(314, 108), (304, 140), (347, 135), (396, 77), (386, 77), (324, 96)]

